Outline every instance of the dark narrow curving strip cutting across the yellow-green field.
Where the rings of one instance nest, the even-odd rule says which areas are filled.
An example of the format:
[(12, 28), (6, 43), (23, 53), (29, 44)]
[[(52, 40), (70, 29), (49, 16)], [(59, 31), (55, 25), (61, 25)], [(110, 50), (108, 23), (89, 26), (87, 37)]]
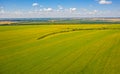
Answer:
[(43, 38), (46, 38), (48, 36), (52, 36), (55, 34), (74, 32), (74, 31), (82, 31), (82, 30), (120, 30), (120, 28), (105, 28), (105, 27), (102, 27), (102, 28), (66, 28), (65, 30), (62, 30), (62, 31), (45, 34), (45, 35), (37, 38), (37, 40), (40, 40), (40, 39), (43, 39)]

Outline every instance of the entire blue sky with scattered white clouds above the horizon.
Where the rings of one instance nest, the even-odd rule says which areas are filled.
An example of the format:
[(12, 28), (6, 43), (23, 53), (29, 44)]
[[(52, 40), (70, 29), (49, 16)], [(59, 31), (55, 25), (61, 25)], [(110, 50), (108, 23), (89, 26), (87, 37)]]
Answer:
[(120, 17), (120, 0), (0, 0), (0, 18)]

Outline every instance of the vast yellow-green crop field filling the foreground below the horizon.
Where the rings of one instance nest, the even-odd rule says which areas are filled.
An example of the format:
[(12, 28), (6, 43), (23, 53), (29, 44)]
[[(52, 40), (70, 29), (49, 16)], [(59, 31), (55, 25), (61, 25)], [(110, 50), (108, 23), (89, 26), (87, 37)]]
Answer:
[(120, 24), (0, 26), (0, 74), (120, 74)]

